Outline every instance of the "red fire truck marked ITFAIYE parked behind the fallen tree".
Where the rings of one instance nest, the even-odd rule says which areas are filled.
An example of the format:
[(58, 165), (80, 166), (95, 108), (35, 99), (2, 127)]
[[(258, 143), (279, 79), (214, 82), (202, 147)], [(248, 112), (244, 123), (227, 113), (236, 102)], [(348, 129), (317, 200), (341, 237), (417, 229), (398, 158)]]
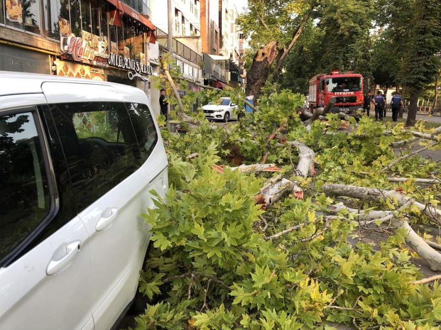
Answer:
[(309, 107), (324, 107), (331, 97), (337, 102), (331, 112), (351, 113), (363, 108), (363, 76), (351, 71), (331, 71), (331, 74), (320, 73), (309, 81)]

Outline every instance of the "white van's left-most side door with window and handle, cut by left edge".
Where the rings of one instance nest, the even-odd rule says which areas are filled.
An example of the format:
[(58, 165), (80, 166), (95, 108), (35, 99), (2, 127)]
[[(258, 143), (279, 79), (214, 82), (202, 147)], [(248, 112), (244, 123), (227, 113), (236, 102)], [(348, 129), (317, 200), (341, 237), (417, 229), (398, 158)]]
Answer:
[(14, 105), (0, 109), (0, 329), (93, 330), (89, 235), (41, 114), (19, 107), (30, 99), (46, 103), (0, 97)]

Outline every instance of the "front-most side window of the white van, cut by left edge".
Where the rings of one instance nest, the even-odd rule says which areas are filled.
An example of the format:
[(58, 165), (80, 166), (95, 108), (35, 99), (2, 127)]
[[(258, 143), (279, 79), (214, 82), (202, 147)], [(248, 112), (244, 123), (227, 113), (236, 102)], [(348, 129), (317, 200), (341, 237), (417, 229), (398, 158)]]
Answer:
[(42, 148), (31, 112), (0, 117), (0, 259), (44, 220), (50, 209)]

